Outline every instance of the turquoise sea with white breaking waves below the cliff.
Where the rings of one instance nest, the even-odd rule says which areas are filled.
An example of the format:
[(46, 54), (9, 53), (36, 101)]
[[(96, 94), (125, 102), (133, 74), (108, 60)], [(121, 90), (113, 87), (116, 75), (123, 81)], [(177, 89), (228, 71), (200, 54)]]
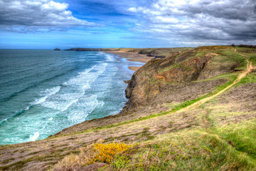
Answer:
[(103, 52), (0, 50), (0, 145), (119, 113), (128, 66), (142, 65)]

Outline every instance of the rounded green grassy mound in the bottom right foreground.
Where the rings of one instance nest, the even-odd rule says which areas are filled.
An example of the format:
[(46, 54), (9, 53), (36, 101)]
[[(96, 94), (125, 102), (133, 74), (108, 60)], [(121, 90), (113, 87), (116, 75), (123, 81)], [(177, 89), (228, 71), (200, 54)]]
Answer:
[(183, 130), (139, 142), (115, 157), (110, 165), (112, 170), (253, 170), (255, 167), (251, 157), (204, 130)]

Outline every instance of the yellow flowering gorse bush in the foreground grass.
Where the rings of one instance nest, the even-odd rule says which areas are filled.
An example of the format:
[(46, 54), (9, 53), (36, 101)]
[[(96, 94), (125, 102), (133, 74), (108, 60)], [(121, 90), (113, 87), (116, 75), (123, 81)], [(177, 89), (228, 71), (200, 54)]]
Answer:
[(97, 152), (97, 154), (92, 158), (90, 164), (95, 162), (110, 163), (114, 155), (119, 152), (124, 152), (129, 147), (131, 146), (124, 143), (95, 144), (92, 148)]

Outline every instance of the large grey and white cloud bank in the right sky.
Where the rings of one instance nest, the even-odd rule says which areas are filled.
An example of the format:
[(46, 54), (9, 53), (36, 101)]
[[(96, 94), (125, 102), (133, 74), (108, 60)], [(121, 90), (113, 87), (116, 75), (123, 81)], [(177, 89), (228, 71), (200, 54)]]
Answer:
[(256, 39), (255, 0), (159, 0), (149, 8), (128, 10), (141, 14), (139, 26), (156, 36), (183, 41), (250, 41)]

